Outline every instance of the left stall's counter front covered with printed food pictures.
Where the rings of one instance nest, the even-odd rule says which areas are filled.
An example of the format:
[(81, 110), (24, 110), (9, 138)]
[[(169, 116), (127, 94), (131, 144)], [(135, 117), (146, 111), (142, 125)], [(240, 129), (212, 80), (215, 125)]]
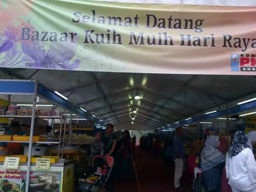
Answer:
[[(52, 163), (50, 170), (36, 170), (36, 164), (32, 163), (29, 192), (74, 192), (74, 163)], [(9, 184), (14, 186), (13, 192), (25, 192), (27, 163), (20, 163), (18, 170), (6, 170), (3, 165), (0, 162), (0, 190)]]

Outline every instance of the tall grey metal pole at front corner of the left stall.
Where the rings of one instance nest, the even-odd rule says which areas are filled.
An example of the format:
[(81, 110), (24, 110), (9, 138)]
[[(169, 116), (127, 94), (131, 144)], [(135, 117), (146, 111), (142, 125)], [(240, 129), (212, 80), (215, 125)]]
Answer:
[(28, 192), (29, 180), (30, 180), (31, 149), (32, 149), (33, 134), (34, 134), (34, 122), (35, 122), (35, 116), (36, 116), (36, 92), (37, 92), (37, 81), (35, 81), (35, 87), (34, 87), (34, 98), (33, 98), (33, 107), (32, 107), (31, 126), (30, 126), (30, 138), (29, 138), (29, 146), (28, 146), (28, 164), (27, 164), (25, 192)]

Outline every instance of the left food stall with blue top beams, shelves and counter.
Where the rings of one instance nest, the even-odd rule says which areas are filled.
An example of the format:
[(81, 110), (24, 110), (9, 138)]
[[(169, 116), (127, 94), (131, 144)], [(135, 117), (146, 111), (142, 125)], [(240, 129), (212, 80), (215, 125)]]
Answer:
[[(54, 110), (47, 113), (36, 110), (36, 97), (39, 96), (48, 102), (60, 106), (74, 114), (90, 121), (104, 124), (98, 119), (90, 116), (84, 110), (69, 103), (64, 98), (47, 89), (37, 81), (31, 80), (0, 80), (0, 94), (32, 95), (32, 109), (21, 109), (20, 107), (4, 106), (1, 108), (0, 118), (9, 118), (15, 122), (30, 122), (27, 128), (28, 136), (5, 135), (0, 136), (1, 143), (7, 143), (6, 147), (0, 149), (0, 190), (9, 192), (9, 188), (17, 192), (73, 192), (75, 167), (81, 169), (81, 164), (86, 164), (86, 151), (76, 144), (90, 144), (93, 137), (72, 134), (72, 115), (67, 124), (67, 116)], [(44, 115), (44, 116), (42, 116)], [(38, 134), (42, 129), (36, 126), (46, 119), (59, 120), (58, 134), (47, 137)], [(67, 128), (67, 125), (69, 128)], [(43, 127), (43, 125), (41, 125)], [(68, 130), (68, 135), (66, 134)], [(34, 136), (38, 134), (38, 136)], [(84, 142), (80, 143), (81, 137)], [(87, 139), (86, 139), (87, 138)], [(44, 144), (44, 146), (42, 146)], [(24, 146), (23, 152), (12, 154), (15, 146)], [(82, 162), (82, 163), (81, 163)], [(27, 178), (30, 178), (28, 180)]]

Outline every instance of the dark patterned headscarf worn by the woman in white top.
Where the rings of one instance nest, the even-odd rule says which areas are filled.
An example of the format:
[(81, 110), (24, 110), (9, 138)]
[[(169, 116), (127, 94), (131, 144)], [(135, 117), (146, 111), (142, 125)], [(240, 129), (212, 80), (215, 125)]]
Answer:
[(250, 148), (247, 144), (248, 136), (243, 131), (237, 131), (234, 134), (232, 146), (228, 149), (228, 156), (233, 157), (239, 154), (245, 148)]

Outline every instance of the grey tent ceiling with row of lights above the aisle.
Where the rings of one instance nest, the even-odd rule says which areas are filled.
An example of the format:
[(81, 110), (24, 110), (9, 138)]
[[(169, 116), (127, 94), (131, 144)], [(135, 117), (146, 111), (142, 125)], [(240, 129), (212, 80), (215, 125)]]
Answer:
[[(1, 69), (3, 70), (3, 69)], [(5, 69), (6, 70), (6, 69)], [(254, 76), (130, 74), (64, 70), (11, 70), (19, 78), (39, 80), (115, 125), (135, 122), (157, 128), (255, 93)], [(36, 73), (35, 73), (36, 72)], [(7, 77), (5, 77), (7, 78)], [(245, 82), (247, 83), (245, 86)], [(139, 101), (134, 100), (140, 96)]]

